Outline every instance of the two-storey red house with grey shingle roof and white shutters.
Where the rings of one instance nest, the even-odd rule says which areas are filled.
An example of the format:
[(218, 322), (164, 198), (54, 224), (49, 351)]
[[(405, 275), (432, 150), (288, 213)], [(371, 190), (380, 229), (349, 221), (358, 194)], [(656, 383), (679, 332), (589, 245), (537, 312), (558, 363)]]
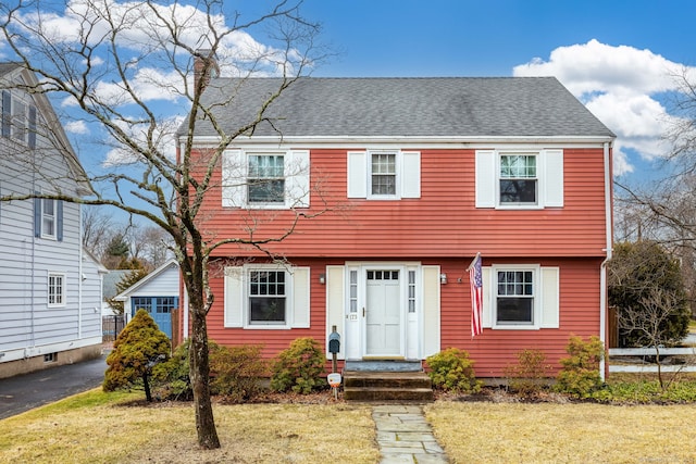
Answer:
[[(203, 99), (232, 130), (278, 85), (214, 78)], [(331, 211), (268, 244), (285, 264), (216, 250), (211, 339), (273, 356), (299, 337), (327, 343), (336, 326), (339, 360), (458, 347), (478, 377), (502, 377), (524, 349), (558, 368), (571, 335), (604, 339), (614, 135), (556, 78), (308, 77), (265, 114), (225, 151), (203, 228), (273, 237), (298, 212)], [(201, 149), (219, 141), (208, 121), (197, 130)]]

